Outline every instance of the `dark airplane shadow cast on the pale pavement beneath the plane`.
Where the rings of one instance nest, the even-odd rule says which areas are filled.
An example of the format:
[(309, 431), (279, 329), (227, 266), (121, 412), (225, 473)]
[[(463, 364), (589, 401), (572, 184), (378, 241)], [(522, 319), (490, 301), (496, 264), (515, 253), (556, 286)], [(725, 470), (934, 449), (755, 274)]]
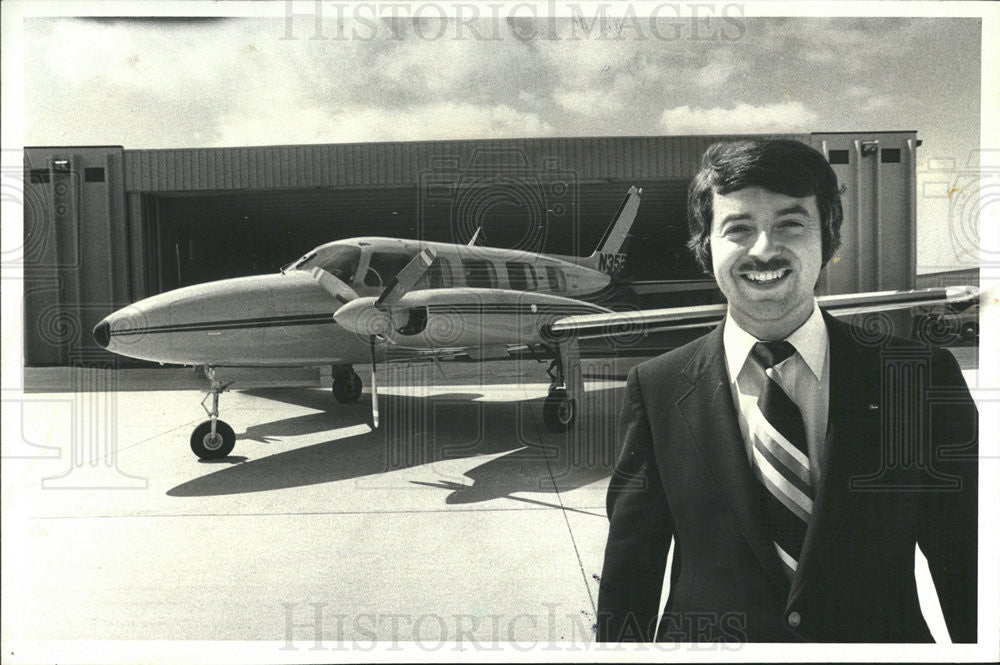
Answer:
[[(257, 391), (259, 396), (313, 406), (329, 394), (309, 390)], [(266, 393), (266, 394), (265, 394)], [(313, 393), (313, 394), (309, 394)], [(368, 422), (368, 395), (342, 410), (254, 425), (240, 440), (299, 436)], [(489, 456), (456, 479), (414, 482), (449, 493), (447, 504), (466, 504), (516, 492), (556, 492), (610, 475), (620, 390), (588, 391), (569, 432), (549, 432), (542, 422), (542, 399), (475, 401), (479, 394), (433, 397), (381, 395), (378, 430), (335, 438), (252, 459), (194, 478), (167, 492), (195, 497), (264, 492), (337, 482), (439, 462)], [(506, 453), (506, 454), (504, 454)]]

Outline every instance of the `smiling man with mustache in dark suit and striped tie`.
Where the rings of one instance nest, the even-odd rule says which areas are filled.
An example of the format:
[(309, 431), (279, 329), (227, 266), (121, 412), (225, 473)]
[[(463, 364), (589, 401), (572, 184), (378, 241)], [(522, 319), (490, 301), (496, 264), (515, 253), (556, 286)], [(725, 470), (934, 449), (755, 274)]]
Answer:
[(917, 546), (952, 640), (975, 641), (976, 408), (948, 352), (818, 307), (842, 219), (807, 145), (705, 153), (689, 245), (728, 313), (629, 374), (600, 641), (928, 642)]

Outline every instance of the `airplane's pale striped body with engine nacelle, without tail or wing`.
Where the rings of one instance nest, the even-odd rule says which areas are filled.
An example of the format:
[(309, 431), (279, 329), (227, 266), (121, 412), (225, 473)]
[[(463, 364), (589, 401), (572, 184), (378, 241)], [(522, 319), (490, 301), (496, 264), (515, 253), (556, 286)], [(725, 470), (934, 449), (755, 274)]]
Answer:
[[(180, 365), (366, 362), (370, 336), (345, 329), (334, 314), (352, 300), (378, 296), (427, 247), (436, 258), (396, 308), (392, 328), (380, 331), (382, 342), (418, 349), (537, 343), (542, 326), (557, 318), (607, 311), (579, 300), (611, 283), (608, 274), (577, 264), (596, 265), (595, 257), (367, 237), (321, 245), (281, 273), (146, 298), (107, 317), (94, 335), (115, 353)], [(324, 288), (317, 269), (343, 295)], [(408, 308), (421, 292), (425, 297)], [(384, 344), (377, 349), (383, 352)]]

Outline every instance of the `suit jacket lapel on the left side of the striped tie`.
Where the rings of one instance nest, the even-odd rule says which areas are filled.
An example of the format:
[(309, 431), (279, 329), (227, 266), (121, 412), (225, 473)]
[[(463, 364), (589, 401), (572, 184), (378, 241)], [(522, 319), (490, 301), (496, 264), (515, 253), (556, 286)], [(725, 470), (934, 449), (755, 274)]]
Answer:
[(716, 489), (736, 517), (740, 532), (776, 584), (785, 584), (774, 546), (760, 513), (760, 482), (750, 470), (726, 371), (722, 325), (705, 338), (684, 376), (688, 390), (677, 399), (684, 423)]

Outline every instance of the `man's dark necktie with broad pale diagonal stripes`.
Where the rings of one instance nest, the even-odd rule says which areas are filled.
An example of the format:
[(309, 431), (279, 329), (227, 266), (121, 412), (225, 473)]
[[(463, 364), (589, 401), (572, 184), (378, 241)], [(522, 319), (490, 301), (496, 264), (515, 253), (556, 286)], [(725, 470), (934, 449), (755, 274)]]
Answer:
[(748, 415), (753, 469), (763, 483), (764, 519), (789, 581), (795, 576), (813, 508), (805, 423), (775, 380), (774, 366), (795, 353), (788, 342), (758, 342), (750, 355), (764, 374), (757, 408)]

